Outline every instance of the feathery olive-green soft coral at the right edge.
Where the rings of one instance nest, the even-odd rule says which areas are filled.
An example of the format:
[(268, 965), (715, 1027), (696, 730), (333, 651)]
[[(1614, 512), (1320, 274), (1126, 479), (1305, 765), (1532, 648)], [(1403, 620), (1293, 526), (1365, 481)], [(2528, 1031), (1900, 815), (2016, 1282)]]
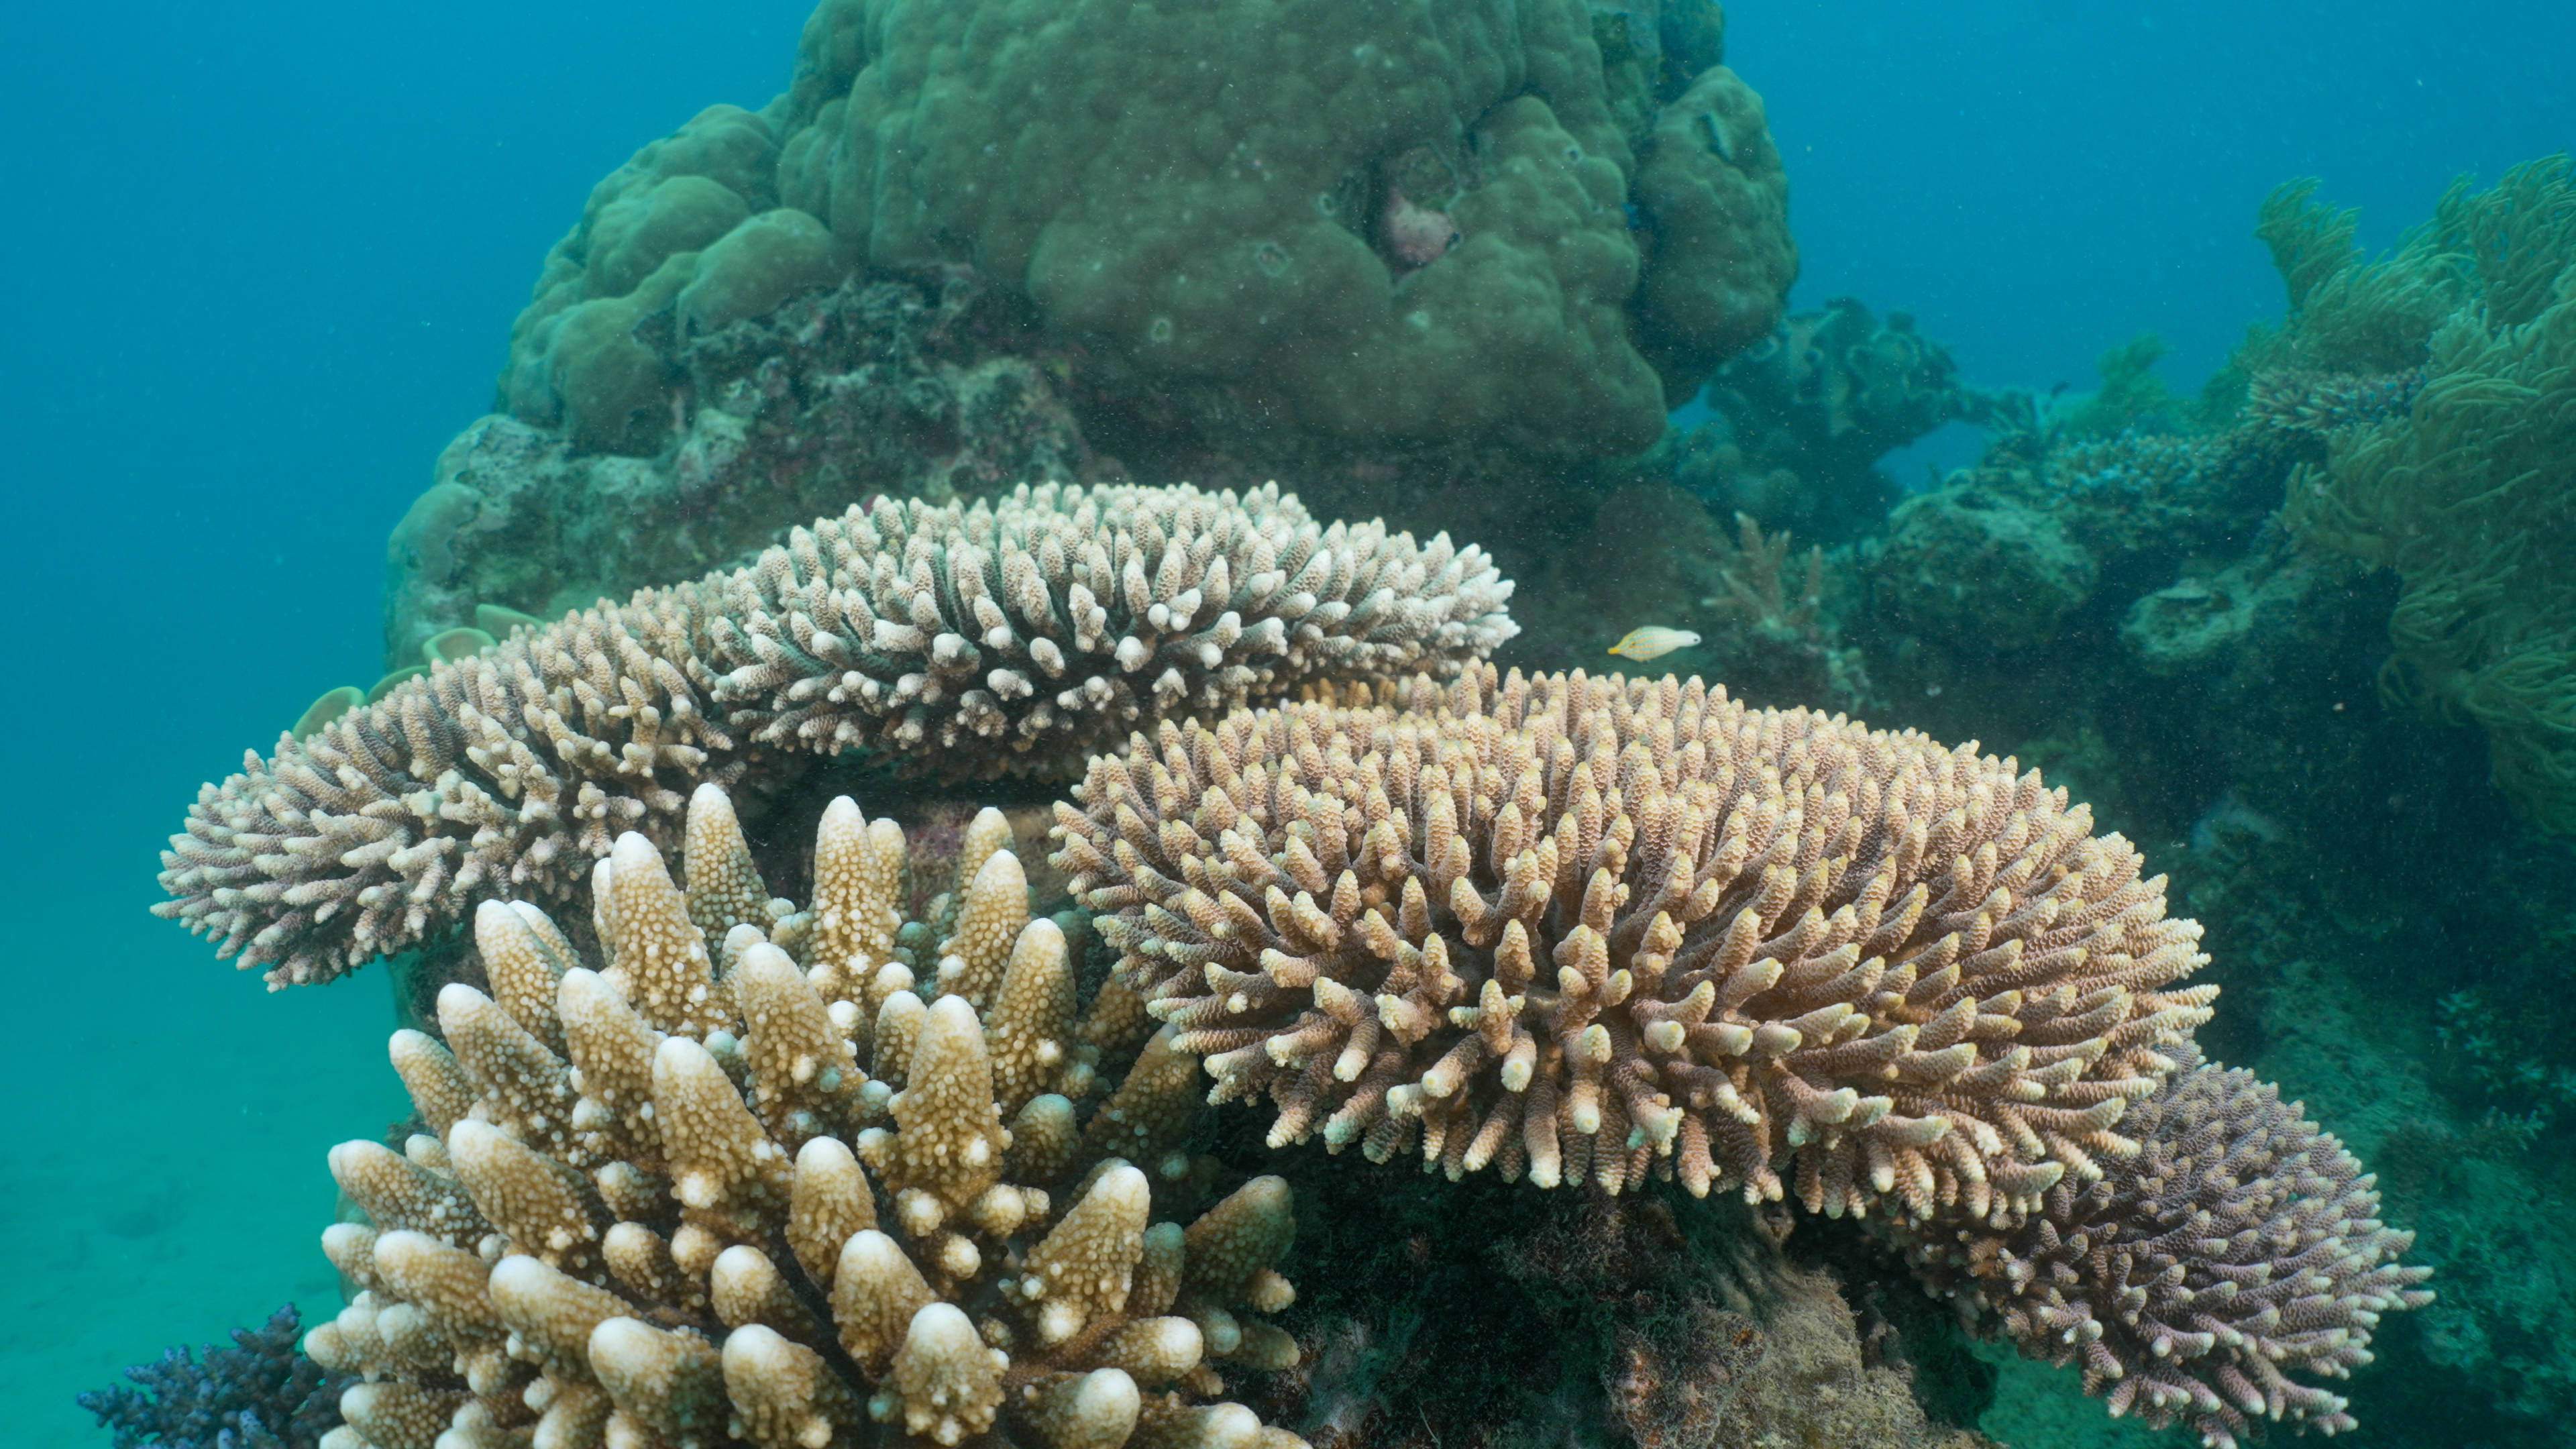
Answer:
[[(2306, 206), (2303, 193), (2293, 196)], [(2285, 201), (2275, 199), (2275, 209)], [(2349, 219), (2306, 214), (2311, 232)], [(2576, 165), (2514, 168), (2494, 191), (2455, 186), (2432, 227), (2385, 263), (2326, 271), (2295, 250), (2295, 317), (2331, 294), (2424, 320), (2411, 407), (2339, 433), (2290, 485), (2300, 539), (2403, 580), (2385, 686), (2432, 717), (2486, 730), (2496, 786), (2535, 822), (2576, 833)], [(2308, 351), (2370, 353), (2347, 322), (2285, 330)], [(2318, 335), (2324, 333), (2324, 335)], [(2375, 335), (2385, 335), (2375, 333)], [(2411, 356), (2411, 353), (2409, 353)]]

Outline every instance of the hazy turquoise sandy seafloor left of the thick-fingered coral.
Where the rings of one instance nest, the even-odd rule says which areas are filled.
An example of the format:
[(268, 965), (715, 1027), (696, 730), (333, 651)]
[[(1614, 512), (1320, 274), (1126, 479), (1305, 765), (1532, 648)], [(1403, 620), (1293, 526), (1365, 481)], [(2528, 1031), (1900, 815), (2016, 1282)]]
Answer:
[(46, 913), (80, 931), (15, 931), (0, 1444), (100, 1449), (77, 1390), (289, 1299), (307, 1323), (337, 1312), (322, 1158), (407, 1111), (381, 972), (268, 998), (144, 900), (62, 895)]

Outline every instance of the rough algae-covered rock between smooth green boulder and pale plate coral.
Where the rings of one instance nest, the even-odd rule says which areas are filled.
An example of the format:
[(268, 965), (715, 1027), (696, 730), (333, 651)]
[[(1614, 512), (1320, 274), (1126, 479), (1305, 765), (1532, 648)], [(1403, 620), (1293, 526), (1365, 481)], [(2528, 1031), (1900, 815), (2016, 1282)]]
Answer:
[(477, 420), (386, 544), (386, 663), (417, 663), (456, 624), (502, 637), (526, 616), (696, 578), (878, 492), (1092, 477), (1056, 376), (987, 333), (1007, 327), (963, 276), (940, 291), (845, 281), (683, 345), (698, 407), (665, 456)]

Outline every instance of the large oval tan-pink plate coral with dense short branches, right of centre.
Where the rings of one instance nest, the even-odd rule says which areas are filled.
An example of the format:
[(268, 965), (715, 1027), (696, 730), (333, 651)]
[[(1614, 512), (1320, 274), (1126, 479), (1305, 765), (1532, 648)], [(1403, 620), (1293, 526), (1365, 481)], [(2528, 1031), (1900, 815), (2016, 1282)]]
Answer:
[(1450, 1176), (2009, 1217), (2215, 987), (2164, 877), (2012, 761), (1680, 678), (1412, 681), (1164, 724), (1059, 804), (1213, 1098)]

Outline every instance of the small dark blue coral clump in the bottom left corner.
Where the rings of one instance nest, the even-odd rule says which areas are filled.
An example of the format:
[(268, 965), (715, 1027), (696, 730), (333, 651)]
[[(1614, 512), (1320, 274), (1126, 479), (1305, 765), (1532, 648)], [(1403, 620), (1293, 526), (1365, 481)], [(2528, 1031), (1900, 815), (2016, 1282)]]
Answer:
[(234, 1328), (232, 1348), (170, 1348), (126, 1369), (134, 1387), (85, 1392), (80, 1408), (116, 1434), (116, 1449), (317, 1449), (340, 1423), (348, 1379), (296, 1351), (299, 1323), (286, 1305), (258, 1328)]

